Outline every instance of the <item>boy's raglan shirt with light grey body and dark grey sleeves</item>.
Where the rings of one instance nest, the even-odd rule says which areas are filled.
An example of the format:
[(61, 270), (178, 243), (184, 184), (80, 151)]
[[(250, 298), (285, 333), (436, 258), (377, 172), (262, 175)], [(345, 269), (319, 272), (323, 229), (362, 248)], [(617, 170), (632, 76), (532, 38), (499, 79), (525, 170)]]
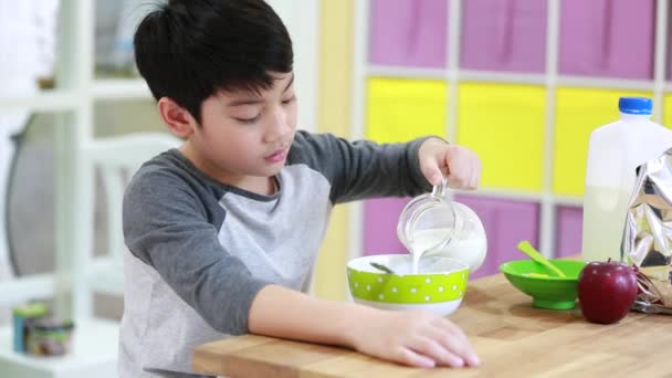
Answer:
[(248, 332), (264, 285), (305, 292), (334, 204), (430, 189), (421, 141), (298, 132), (272, 196), (214, 181), (177, 149), (143, 165), (124, 197), (120, 377), (190, 377), (196, 346)]

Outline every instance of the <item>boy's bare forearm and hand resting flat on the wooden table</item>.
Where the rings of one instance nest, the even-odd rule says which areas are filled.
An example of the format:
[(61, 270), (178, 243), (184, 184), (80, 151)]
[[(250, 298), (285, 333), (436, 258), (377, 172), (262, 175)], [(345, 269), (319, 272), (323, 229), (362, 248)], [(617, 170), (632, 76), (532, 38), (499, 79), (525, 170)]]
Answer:
[(254, 334), (346, 346), (418, 367), (480, 364), (466, 336), (447, 318), (323, 301), (277, 285), (259, 292), (249, 327)]

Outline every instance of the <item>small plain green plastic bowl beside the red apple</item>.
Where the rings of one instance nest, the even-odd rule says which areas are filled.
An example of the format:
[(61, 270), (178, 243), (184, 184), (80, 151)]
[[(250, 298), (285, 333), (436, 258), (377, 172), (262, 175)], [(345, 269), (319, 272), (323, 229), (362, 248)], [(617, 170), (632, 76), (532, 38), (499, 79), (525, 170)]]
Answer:
[[(521, 292), (532, 296), (535, 307), (570, 309), (576, 306), (579, 273), (586, 265), (582, 261), (549, 260), (566, 277), (552, 276), (542, 264), (532, 260), (510, 261), (500, 265), (508, 282)], [(529, 276), (529, 274), (533, 276)], [(536, 276), (548, 274), (549, 276)]]

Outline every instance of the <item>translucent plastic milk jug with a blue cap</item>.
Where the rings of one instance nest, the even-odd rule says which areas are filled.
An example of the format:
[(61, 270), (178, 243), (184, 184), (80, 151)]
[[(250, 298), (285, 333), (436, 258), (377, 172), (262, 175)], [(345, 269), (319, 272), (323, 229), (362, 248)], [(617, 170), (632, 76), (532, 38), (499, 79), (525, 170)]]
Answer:
[(621, 260), (636, 169), (672, 147), (672, 130), (650, 120), (650, 98), (621, 97), (620, 119), (590, 134), (584, 193), (582, 255)]

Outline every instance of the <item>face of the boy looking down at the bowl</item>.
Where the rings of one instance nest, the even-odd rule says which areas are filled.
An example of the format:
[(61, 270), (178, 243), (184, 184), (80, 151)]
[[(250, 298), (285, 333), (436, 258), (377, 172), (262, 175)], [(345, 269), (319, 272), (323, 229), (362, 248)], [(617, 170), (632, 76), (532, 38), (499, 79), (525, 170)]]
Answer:
[(267, 91), (220, 92), (202, 103), (183, 151), (212, 178), (255, 190), (284, 166), (296, 130), (294, 74), (272, 76)]

